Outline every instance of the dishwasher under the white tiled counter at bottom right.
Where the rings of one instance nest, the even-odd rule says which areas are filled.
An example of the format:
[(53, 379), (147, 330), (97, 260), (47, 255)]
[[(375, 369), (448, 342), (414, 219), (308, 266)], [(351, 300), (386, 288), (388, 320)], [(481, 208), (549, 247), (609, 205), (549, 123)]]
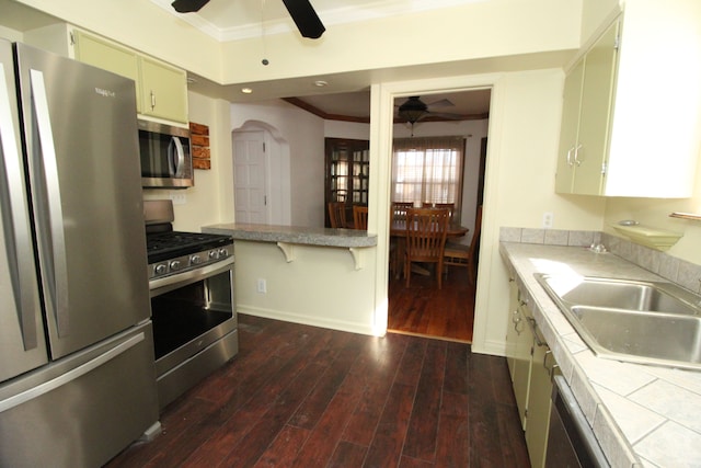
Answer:
[(547, 468), (610, 467), (567, 381), (553, 378)]

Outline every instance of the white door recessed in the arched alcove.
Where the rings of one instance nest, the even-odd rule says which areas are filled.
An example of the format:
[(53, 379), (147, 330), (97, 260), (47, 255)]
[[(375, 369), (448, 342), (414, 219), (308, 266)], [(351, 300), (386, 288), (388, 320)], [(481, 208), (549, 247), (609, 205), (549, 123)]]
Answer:
[(234, 132), (233, 190), (237, 222), (269, 222), (265, 182), (265, 134)]

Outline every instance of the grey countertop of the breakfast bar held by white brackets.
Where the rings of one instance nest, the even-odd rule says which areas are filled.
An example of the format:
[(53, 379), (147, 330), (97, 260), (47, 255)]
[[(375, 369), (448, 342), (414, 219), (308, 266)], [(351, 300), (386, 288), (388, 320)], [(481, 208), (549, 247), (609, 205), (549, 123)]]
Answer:
[(298, 226), (220, 224), (204, 226), (203, 232), (232, 236), (233, 240), (285, 242), (303, 246), (363, 248), (377, 246), (377, 235), (365, 230)]

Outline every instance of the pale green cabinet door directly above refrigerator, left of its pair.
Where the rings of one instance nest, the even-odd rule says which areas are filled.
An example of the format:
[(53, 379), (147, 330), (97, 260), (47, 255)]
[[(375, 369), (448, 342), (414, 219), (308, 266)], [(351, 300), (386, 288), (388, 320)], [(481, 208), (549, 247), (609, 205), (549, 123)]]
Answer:
[(135, 52), (117, 44), (74, 31), (76, 59), (103, 70), (112, 71), (137, 82), (136, 106), (141, 112), (141, 100), (138, 87), (139, 65)]

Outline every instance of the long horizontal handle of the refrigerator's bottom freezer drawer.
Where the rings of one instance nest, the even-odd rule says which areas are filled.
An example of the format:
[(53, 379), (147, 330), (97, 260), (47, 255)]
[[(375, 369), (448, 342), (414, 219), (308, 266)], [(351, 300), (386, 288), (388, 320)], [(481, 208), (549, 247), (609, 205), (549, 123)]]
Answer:
[(51, 390), (56, 390), (57, 388), (78, 379), (79, 377), (84, 376), (85, 374), (96, 369), (97, 367), (106, 364), (107, 362), (114, 359), (118, 355), (127, 352), (129, 349), (136, 346), (140, 342), (146, 339), (143, 332), (140, 332), (128, 340), (119, 343), (118, 345), (110, 349), (110, 351), (100, 354), (93, 359), (88, 361), (80, 366), (59, 375), (56, 378), (45, 381), (44, 384), (32, 387), (27, 390), (21, 391), (16, 395), (13, 395), (10, 398), (5, 398), (0, 401), (0, 413), (3, 411), (8, 411), (14, 407), (19, 407), (22, 403), (25, 403), (30, 400), (41, 397), (42, 395), (48, 393)]

